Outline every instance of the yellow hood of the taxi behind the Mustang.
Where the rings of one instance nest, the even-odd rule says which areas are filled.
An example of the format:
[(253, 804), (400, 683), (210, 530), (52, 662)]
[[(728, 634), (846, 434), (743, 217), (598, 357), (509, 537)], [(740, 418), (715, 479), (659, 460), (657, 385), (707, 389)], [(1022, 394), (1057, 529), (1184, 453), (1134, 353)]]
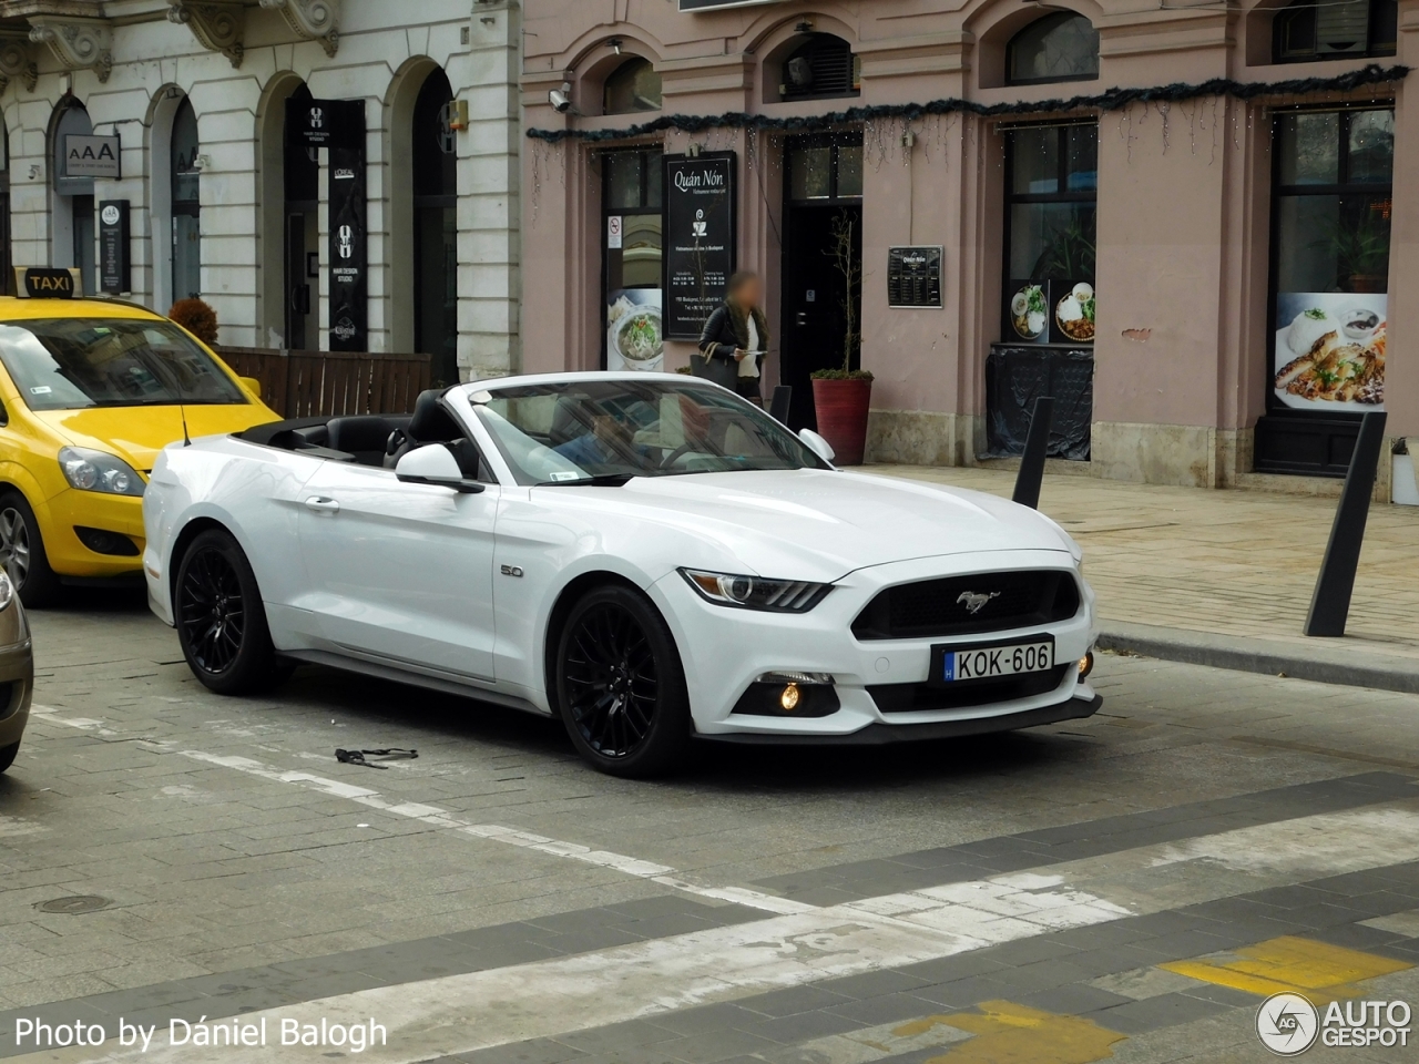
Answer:
[[(75, 447), (118, 454), (135, 470), (152, 470), (158, 453), (182, 440), (182, 407), (176, 406), (109, 406), (87, 410), (37, 410), (34, 417)], [(186, 407), (187, 433), (219, 436), (240, 433), (254, 424), (271, 420), (271, 411), (257, 403), (250, 404), (193, 404)]]

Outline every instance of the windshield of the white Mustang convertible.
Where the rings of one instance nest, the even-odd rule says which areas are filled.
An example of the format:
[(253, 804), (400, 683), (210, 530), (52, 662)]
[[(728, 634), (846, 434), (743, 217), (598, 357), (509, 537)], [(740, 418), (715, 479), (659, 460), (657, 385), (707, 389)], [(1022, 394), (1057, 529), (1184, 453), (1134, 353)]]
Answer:
[(756, 406), (707, 384), (612, 379), (487, 394), (474, 409), (518, 484), (827, 468)]

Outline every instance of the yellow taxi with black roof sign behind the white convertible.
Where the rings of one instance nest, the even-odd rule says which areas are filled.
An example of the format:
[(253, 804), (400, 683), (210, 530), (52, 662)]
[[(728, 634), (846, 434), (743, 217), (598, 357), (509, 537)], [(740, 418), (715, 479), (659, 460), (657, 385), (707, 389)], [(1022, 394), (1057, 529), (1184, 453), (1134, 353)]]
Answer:
[(0, 297), (0, 566), (26, 606), (142, 575), (158, 453), (278, 416), (182, 326), (79, 297), (78, 271), (17, 270)]

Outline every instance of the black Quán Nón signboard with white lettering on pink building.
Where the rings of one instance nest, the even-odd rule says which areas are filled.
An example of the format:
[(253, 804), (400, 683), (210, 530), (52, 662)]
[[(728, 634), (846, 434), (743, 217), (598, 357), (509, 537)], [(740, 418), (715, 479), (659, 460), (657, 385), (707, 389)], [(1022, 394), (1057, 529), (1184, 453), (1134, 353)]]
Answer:
[(666, 156), (666, 339), (698, 340), (734, 272), (734, 152)]

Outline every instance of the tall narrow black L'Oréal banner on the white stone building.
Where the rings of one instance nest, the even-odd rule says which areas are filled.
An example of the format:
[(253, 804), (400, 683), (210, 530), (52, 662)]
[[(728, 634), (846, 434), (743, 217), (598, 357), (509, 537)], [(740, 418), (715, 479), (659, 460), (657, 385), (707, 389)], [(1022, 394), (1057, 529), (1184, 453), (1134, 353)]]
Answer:
[[(355, 106), (359, 136), (331, 148), (331, 350), (369, 349), (365, 104)], [(345, 122), (353, 125), (353, 116)]]

